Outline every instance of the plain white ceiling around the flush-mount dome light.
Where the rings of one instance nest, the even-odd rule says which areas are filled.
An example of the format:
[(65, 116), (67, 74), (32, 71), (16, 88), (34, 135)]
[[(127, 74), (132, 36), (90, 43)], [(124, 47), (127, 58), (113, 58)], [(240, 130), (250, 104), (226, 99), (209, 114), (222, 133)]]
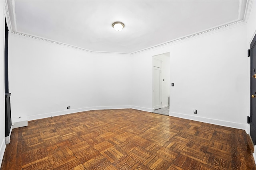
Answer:
[[(15, 0), (12, 31), (90, 51), (134, 53), (244, 19), (246, 0)], [(112, 23), (125, 27), (117, 32)]]

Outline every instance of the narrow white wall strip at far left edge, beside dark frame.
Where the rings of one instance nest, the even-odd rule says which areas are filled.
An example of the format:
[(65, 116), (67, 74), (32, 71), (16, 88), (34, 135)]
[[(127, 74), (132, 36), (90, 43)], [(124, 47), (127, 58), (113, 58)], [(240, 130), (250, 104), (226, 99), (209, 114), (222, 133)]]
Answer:
[(4, 1), (0, 0), (0, 164), (2, 164), (5, 145), (5, 102), (4, 102)]

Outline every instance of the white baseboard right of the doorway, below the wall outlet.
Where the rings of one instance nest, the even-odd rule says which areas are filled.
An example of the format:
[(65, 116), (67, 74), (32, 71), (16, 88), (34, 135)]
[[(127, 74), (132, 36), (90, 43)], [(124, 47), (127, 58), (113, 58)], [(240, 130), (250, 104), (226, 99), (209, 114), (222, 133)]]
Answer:
[(186, 114), (174, 113), (174, 112), (169, 112), (169, 116), (180, 117), (180, 118), (183, 118), (183, 119), (200, 121), (200, 122), (204, 122), (204, 123), (210, 123), (210, 124), (214, 124), (214, 125), (232, 127), (232, 128), (236, 128), (236, 129), (243, 129), (243, 130), (246, 130), (246, 125), (247, 125), (247, 124), (242, 124), (242, 123), (222, 121), (222, 120), (217, 120), (217, 119), (209, 119), (209, 118), (205, 118), (205, 117), (199, 117), (199, 116), (194, 116), (194, 115), (186, 115)]

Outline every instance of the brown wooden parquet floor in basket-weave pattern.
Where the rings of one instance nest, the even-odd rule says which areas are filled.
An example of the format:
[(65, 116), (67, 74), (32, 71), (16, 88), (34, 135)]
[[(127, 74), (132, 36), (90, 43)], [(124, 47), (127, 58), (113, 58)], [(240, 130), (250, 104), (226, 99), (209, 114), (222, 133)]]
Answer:
[(30, 121), (1, 170), (255, 170), (244, 130), (134, 109)]

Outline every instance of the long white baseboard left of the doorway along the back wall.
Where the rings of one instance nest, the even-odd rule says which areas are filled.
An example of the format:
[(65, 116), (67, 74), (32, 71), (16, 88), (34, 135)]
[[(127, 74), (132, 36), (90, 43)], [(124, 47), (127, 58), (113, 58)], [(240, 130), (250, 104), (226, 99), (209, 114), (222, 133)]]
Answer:
[(84, 107), (79, 109), (68, 109), (65, 111), (57, 111), (57, 112), (51, 112), (51, 113), (44, 113), (39, 115), (31, 115), (28, 116), (28, 121), (36, 120), (36, 119), (44, 119), (47, 117), (54, 117), (54, 116), (60, 116), (60, 115), (66, 115), (71, 113), (77, 113), (82, 111), (90, 111), (90, 110), (107, 110), (107, 109), (131, 109), (131, 106), (95, 106), (95, 107)]

